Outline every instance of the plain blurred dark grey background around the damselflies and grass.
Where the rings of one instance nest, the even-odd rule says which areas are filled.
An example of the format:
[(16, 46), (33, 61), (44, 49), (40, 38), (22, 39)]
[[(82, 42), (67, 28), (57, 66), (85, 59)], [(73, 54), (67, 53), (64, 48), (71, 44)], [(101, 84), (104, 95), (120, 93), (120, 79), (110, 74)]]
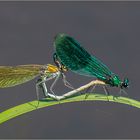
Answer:
[[(60, 32), (121, 79), (128, 77), (128, 97), (140, 99), (140, 2), (0, 2), (0, 65), (54, 64), (53, 38)], [(73, 72), (66, 76), (74, 87), (93, 80)], [(35, 100), (35, 82), (0, 89), (0, 111)], [(55, 93), (66, 91), (60, 80)], [(96, 92), (104, 94), (101, 87)], [(124, 104), (68, 103), (1, 124), (0, 138), (140, 138), (139, 120), (140, 110)]]

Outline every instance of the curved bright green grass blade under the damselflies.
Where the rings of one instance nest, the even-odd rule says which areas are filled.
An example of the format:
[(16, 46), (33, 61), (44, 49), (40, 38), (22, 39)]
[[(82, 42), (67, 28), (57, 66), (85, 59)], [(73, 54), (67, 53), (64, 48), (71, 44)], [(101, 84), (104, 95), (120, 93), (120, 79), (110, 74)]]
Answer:
[(53, 99), (48, 98), (48, 99), (43, 99), (42, 101), (39, 101), (39, 105), (38, 105), (38, 101), (35, 100), (35, 101), (27, 102), (27, 103), (12, 107), (6, 111), (1, 112), (0, 124), (10, 119), (13, 119), (17, 116), (20, 116), (27, 112), (31, 112), (39, 108), (53, 106), (57, 104), (59, 105), (59, 104), (68, 103), (68, 102), (79, 102), (79, 101), (107, 101), (107, 102), (111, 101), (111, 102), (127, 104), (133, 107), (140, 108), (139, 101), (126, 98), (126, 97), (121, 97), (121, 96), (115, 97), (112, 95), (107, 97), (106, 95), (102, 95), (102, 94), (90, 94), (87, 99), (85, 99), (85, 95), (77, 95), (75, 97), (71, 97), (68, 99), (61, 100), (61, 101), (54, 101)]

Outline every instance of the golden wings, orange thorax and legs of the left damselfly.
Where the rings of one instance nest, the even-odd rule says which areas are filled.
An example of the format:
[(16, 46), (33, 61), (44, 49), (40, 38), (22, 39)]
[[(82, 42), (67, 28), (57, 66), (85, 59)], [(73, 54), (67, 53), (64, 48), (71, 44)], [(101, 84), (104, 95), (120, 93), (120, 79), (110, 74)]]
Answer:
[(18, 65), (18, 66), (0, 66), (0, 88), (13, 87), (26, 83), (36, 77), (40, 77), (36, 83), (37, 98), (39, 100), (38, 89), (41, 87), (45, 96), (48, 96), (48, 90), (45, 85), (46, 81), (55, 79), (50, 87), (50, 91), (54, 94), (52, 88), (58, 78), (62, 75), (66, 86), (68, 82), (65, 80), (63, 72), (65, 68), (61, 67), (61, 71), (54, 65)]

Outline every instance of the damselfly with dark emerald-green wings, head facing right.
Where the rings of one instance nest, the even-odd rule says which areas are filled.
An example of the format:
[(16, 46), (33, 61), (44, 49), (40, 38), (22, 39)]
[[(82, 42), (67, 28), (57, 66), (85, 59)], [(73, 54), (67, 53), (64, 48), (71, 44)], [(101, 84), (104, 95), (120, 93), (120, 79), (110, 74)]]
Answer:
[[(121, 81), (116, 74), (95, 56), (90, 55), (74, 38), (60, 33), (55, 37), (54, 47), (56, 51), (54, 62), (57, 65), (59, 62), (62, 66), (80, 75), (96, 77), (106, 85), (120, 87), (120, 89), (128, 87), (127, 78)], [(108, 93), (106, 88), (105, 92)]]

